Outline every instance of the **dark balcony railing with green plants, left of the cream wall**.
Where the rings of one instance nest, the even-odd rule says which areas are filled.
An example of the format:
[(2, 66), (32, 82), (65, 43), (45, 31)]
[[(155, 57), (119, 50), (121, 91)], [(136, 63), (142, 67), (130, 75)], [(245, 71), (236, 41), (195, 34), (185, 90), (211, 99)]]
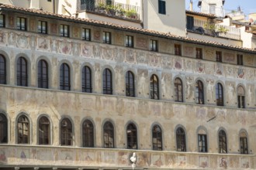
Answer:
[(98, 12), (122, 19), (140, 20), (140, 10), (138, 6), (127, 5), (109, 0), (85, 0), (81, 3), (81, 10)]

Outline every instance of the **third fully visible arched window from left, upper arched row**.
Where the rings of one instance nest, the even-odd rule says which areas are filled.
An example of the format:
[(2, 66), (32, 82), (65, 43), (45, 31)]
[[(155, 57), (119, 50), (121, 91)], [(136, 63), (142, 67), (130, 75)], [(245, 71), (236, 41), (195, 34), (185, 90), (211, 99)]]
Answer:
[(67, 63), (61, 64), (60, 69), (60, 88), (61, 90), (71, 90), (71, 76)]

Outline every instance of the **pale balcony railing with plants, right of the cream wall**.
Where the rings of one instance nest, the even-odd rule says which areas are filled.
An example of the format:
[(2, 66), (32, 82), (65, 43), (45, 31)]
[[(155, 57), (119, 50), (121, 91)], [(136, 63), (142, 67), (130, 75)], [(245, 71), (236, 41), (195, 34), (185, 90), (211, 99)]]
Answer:
[(187, 29), (204, 35), (240, 40), (240, 29), (231, 26), (216, 25), (199, 19), (194, 19), (192, 25), (187, 25)]

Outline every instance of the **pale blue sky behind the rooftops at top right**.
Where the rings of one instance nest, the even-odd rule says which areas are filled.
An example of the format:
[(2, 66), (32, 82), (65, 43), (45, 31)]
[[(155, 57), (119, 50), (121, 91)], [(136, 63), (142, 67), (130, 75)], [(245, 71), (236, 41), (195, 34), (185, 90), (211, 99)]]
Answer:
[[(185, 9), (189, 10), (190, 0), (185, 0)], [(196, 12), (199, 12), (200, 9), (197, 7), (199, 0), (192, 0), (193, 9)], [(245, 15), (250, 13), (256, 13), (256, 0), (226, 0), (224, 4), (224, 9), (226, 13), (231, 12), (232, 10), (237, 10), (237, 7), (240, 6), (241, 10)]]

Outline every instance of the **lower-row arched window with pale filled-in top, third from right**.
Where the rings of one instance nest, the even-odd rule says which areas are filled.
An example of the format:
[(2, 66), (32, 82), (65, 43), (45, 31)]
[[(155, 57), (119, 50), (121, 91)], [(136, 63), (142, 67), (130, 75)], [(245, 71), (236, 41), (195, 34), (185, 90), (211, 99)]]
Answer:
[(208, 134), (205, 127), (199, 126), (196, 131), (199, 152), (208, 152)]

